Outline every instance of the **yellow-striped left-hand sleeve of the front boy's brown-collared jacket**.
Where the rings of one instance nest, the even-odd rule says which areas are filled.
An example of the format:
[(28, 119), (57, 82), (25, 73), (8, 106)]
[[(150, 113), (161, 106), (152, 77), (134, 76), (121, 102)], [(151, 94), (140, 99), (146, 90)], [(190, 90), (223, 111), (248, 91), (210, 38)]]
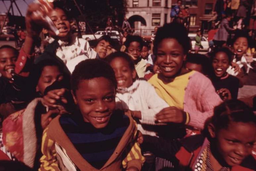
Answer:
[(43, 156), (40, 158), (39, 171), (60, 171), (57, 163), (55, 142), (47, 135), (48, 128), (43, 132), (41, 151)]

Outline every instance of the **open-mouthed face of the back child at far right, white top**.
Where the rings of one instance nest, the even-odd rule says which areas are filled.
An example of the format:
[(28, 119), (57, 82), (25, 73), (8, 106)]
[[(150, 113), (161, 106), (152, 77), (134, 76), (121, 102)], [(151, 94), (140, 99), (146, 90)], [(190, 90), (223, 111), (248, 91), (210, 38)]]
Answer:
[(237, 54), (238, 57), (242, 57), (246, 50), (248, 49), (247, 39), (244, 37), (240, 37), (236, 39), (233, 44), (234, 53)]

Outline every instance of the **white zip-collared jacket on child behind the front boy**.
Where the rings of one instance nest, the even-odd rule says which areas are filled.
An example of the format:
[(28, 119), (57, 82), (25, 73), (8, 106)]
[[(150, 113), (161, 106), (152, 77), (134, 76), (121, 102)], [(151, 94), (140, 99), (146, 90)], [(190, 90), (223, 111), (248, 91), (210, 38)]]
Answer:
[[(154, 116), (169, 105), (161, 99), (155, 88), (145, 80), (136, 80), (128, 88), (118, 88), (116, 95), (116, 108), (141, 111), (141, 120), (138, 130), (143, 134), (155, 136), (153, 131), (143, 128), (143, 124), (155, 125)], [(153, 126), (152, 126), (153, 127)]]

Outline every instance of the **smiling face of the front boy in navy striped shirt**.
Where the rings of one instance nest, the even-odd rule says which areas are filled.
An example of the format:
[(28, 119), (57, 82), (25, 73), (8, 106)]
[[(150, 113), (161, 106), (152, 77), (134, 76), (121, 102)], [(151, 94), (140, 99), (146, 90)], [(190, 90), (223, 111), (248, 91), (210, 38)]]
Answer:
[(73, 98), (78, 105), (85, 122), (95, 128), (108, 125), (115, 102), (116, 89), (113, 83), (104, 77), (81, 80)]

